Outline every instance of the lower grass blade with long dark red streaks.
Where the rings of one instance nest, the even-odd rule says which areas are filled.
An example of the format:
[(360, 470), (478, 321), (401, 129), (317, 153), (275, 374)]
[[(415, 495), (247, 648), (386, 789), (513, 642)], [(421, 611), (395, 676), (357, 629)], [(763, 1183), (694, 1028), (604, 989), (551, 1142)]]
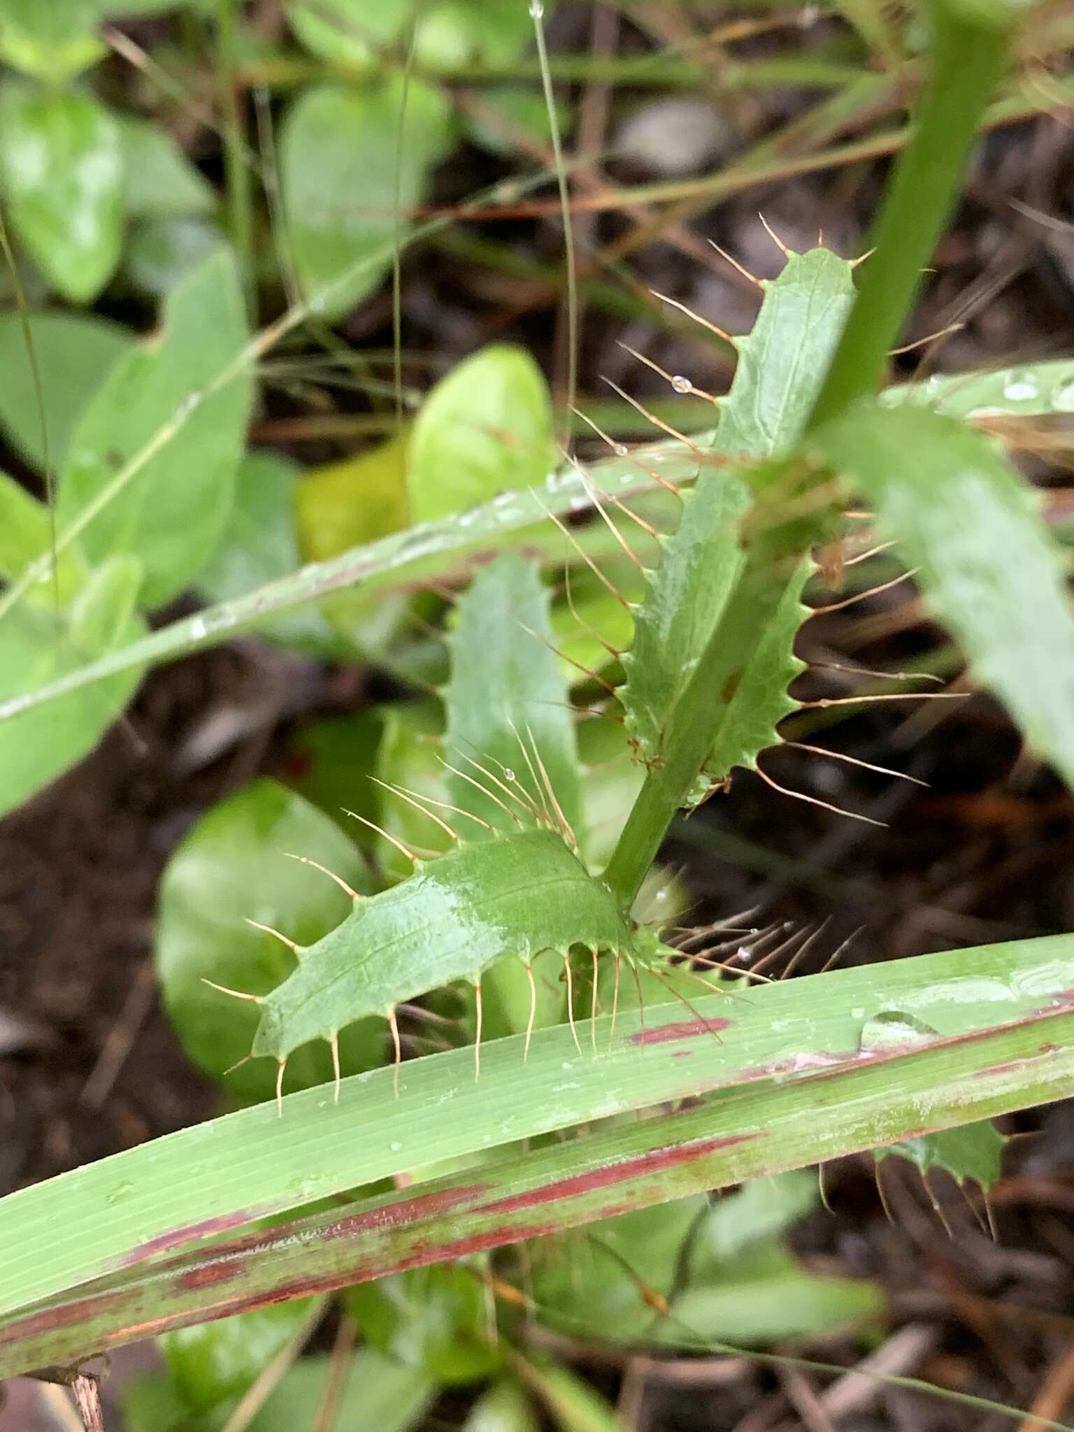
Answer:
[[(0, 1375), (841, 1157), (911, 1128), (928, 1133), (1063, 1098), (1074, 1077), (1070, 1000), (1007, 1024), (994, 1022), (1007, 1012), (1004, 1001), (990, 1008), (990, 1021), (961, 1035), (875, 1057), (859, 1051), (800, 1078), (739, 1088), (719, 1103), (557, 1143), (112, 1280), (0, 1326)], [(633, 1031), (632, 1058), (644, 1068), (664, 1045), (687, 1055), (679, 1064), (680, 1093), (686, 1070), (716, 1044), (705, 1030), (674, 1024), (654, 1024), (650, 1035), (643, 1054)]]

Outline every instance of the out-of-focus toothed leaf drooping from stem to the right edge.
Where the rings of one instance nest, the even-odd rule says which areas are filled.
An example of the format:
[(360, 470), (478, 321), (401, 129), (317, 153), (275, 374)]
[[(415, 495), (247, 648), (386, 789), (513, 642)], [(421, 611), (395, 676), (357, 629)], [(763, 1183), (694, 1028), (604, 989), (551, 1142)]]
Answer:
[(975, 677), (1074, 783), (1074, 611), (1032, 490), (987, 438), (919, 410), (863, 404), (816, 451), (875, 508)]

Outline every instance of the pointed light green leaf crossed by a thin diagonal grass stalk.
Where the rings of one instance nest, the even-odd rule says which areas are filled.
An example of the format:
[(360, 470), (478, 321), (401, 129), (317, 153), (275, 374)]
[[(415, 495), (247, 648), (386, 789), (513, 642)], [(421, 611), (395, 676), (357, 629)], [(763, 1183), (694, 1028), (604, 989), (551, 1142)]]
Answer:
[(205, 567), (228, 523), (253, 384), (238, 371), (205, 395), (246, 342), (235, 262), (218, 253), (169, 295), (160, 329), (109, 372), (72, 438), (59, 490), (64, 526), (99, 501), (123, 465), (198, 404), (113, 500), (82, 541), (90, 560), (135, 553), (146, 570), (143, 604), (176, 596)]

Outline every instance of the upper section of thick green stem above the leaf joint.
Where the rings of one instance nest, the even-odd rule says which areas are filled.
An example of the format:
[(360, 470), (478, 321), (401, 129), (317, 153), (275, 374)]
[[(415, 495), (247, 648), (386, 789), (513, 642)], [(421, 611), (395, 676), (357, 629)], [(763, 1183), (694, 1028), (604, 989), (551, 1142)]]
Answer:
[[(1007, 7), (934, 0), (928, 80), (911, 140), (888, 185), (868, 248), (862, 286), (806, 430), (878, 391), (921, 272), (958, 196), (967, 158), (1004, 72)], [(1001, 23), (1007, 20), (1007, 23)]]

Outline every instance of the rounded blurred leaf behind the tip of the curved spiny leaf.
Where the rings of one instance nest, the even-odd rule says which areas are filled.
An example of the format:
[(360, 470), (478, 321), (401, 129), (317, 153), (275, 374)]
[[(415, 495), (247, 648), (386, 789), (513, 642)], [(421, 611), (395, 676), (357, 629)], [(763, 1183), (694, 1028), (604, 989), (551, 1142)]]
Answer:
[[(246, 925), (256, 919), (288, 939), (311, 944), (349, 912), (347, 895), (288, 853), (318, 861), (358, 891), (369, 889), (361, 855), (321, 811), (275, 780), (261, 779), (202, 816), (176, 848), (160, 882), (156, 965), (169, 1018), (193, 1063), (246, 1100), (275, 1091), (275, 1065), (243, 1064), (256, 1027), (256, 1007), (211, 990), (213, 979), (249, 994), (266, 994), (295, 967), (272, 935)], [(379, 1064), (384, 1022), (365, 1020), (342, 1031), (344, 1073)], [(288, 1061), (288, 1084), (306, 1088), (332, 1078), (328, 1045), (306, 1045)]]

